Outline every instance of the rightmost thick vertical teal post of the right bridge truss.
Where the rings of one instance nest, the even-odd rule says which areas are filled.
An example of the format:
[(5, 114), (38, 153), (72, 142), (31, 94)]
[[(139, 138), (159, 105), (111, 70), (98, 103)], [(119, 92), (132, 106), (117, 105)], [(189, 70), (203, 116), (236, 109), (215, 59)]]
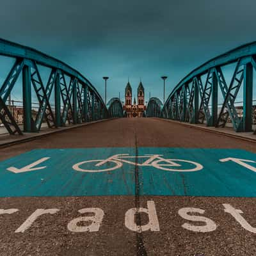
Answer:
[(239, 131), (252, 131), (252, 93), (253, 93), (253, 67), (247, 63), (244, 67), (244, 91), (243, 91), (243, 120)]

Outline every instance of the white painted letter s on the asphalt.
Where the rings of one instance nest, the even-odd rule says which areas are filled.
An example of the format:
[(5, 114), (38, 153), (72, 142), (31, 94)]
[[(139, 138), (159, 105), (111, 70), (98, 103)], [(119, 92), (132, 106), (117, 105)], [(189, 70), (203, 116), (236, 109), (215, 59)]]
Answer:
[(194, 231), (194, 232), (211, 232), (216, 230), (217, 225), (214, 221), (210, 220), (209, 218), (203, 217), (203, 216), (195, 216), (195, 215), (189, 215), (188, 212), (198, 212), (200, 214), (204, 214), (204, 210), (199, 208), (182, 208), (179, 210), (179, 215), (184, 218), (185, 220), (191, 220), (191, 221), (202, 221), (205, 222), (206, 225), (204, 226), (195, 226), (191, 225), (189, 223), (184, 223), (182, 225), (182, 228), (186, 228), (188, 230)]

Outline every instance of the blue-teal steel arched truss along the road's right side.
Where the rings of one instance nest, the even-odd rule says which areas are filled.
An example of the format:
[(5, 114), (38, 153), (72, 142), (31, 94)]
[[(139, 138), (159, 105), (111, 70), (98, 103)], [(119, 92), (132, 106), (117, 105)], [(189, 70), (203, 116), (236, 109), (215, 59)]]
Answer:
[[(228, 83), (223, 69), (231, 66)], [(252, 131), (256, 124), (253, 70), (256, 70), (256, 42), (207, 61), (175, 86), (161, 117), (214, 127), (225, 127), (229, 121), (237, 132)]]

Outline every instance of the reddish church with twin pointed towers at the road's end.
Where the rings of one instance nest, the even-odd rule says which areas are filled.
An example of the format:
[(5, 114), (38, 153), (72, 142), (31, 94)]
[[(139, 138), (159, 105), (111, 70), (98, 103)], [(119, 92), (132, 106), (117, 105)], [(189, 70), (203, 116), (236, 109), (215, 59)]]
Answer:
[(138, 104), (136, 104), (136, 97), (134, 97), (133, 104), (132, 104), (132, 87), (128, 81), (125, 87), (125, 104), (124, 104), (125, 116), (129, 118), (145, 116), (145, 110), (146, 110), (145, 93), (144, 93), (144, 87), (141, 81), (137, 90), (137, 102)]

